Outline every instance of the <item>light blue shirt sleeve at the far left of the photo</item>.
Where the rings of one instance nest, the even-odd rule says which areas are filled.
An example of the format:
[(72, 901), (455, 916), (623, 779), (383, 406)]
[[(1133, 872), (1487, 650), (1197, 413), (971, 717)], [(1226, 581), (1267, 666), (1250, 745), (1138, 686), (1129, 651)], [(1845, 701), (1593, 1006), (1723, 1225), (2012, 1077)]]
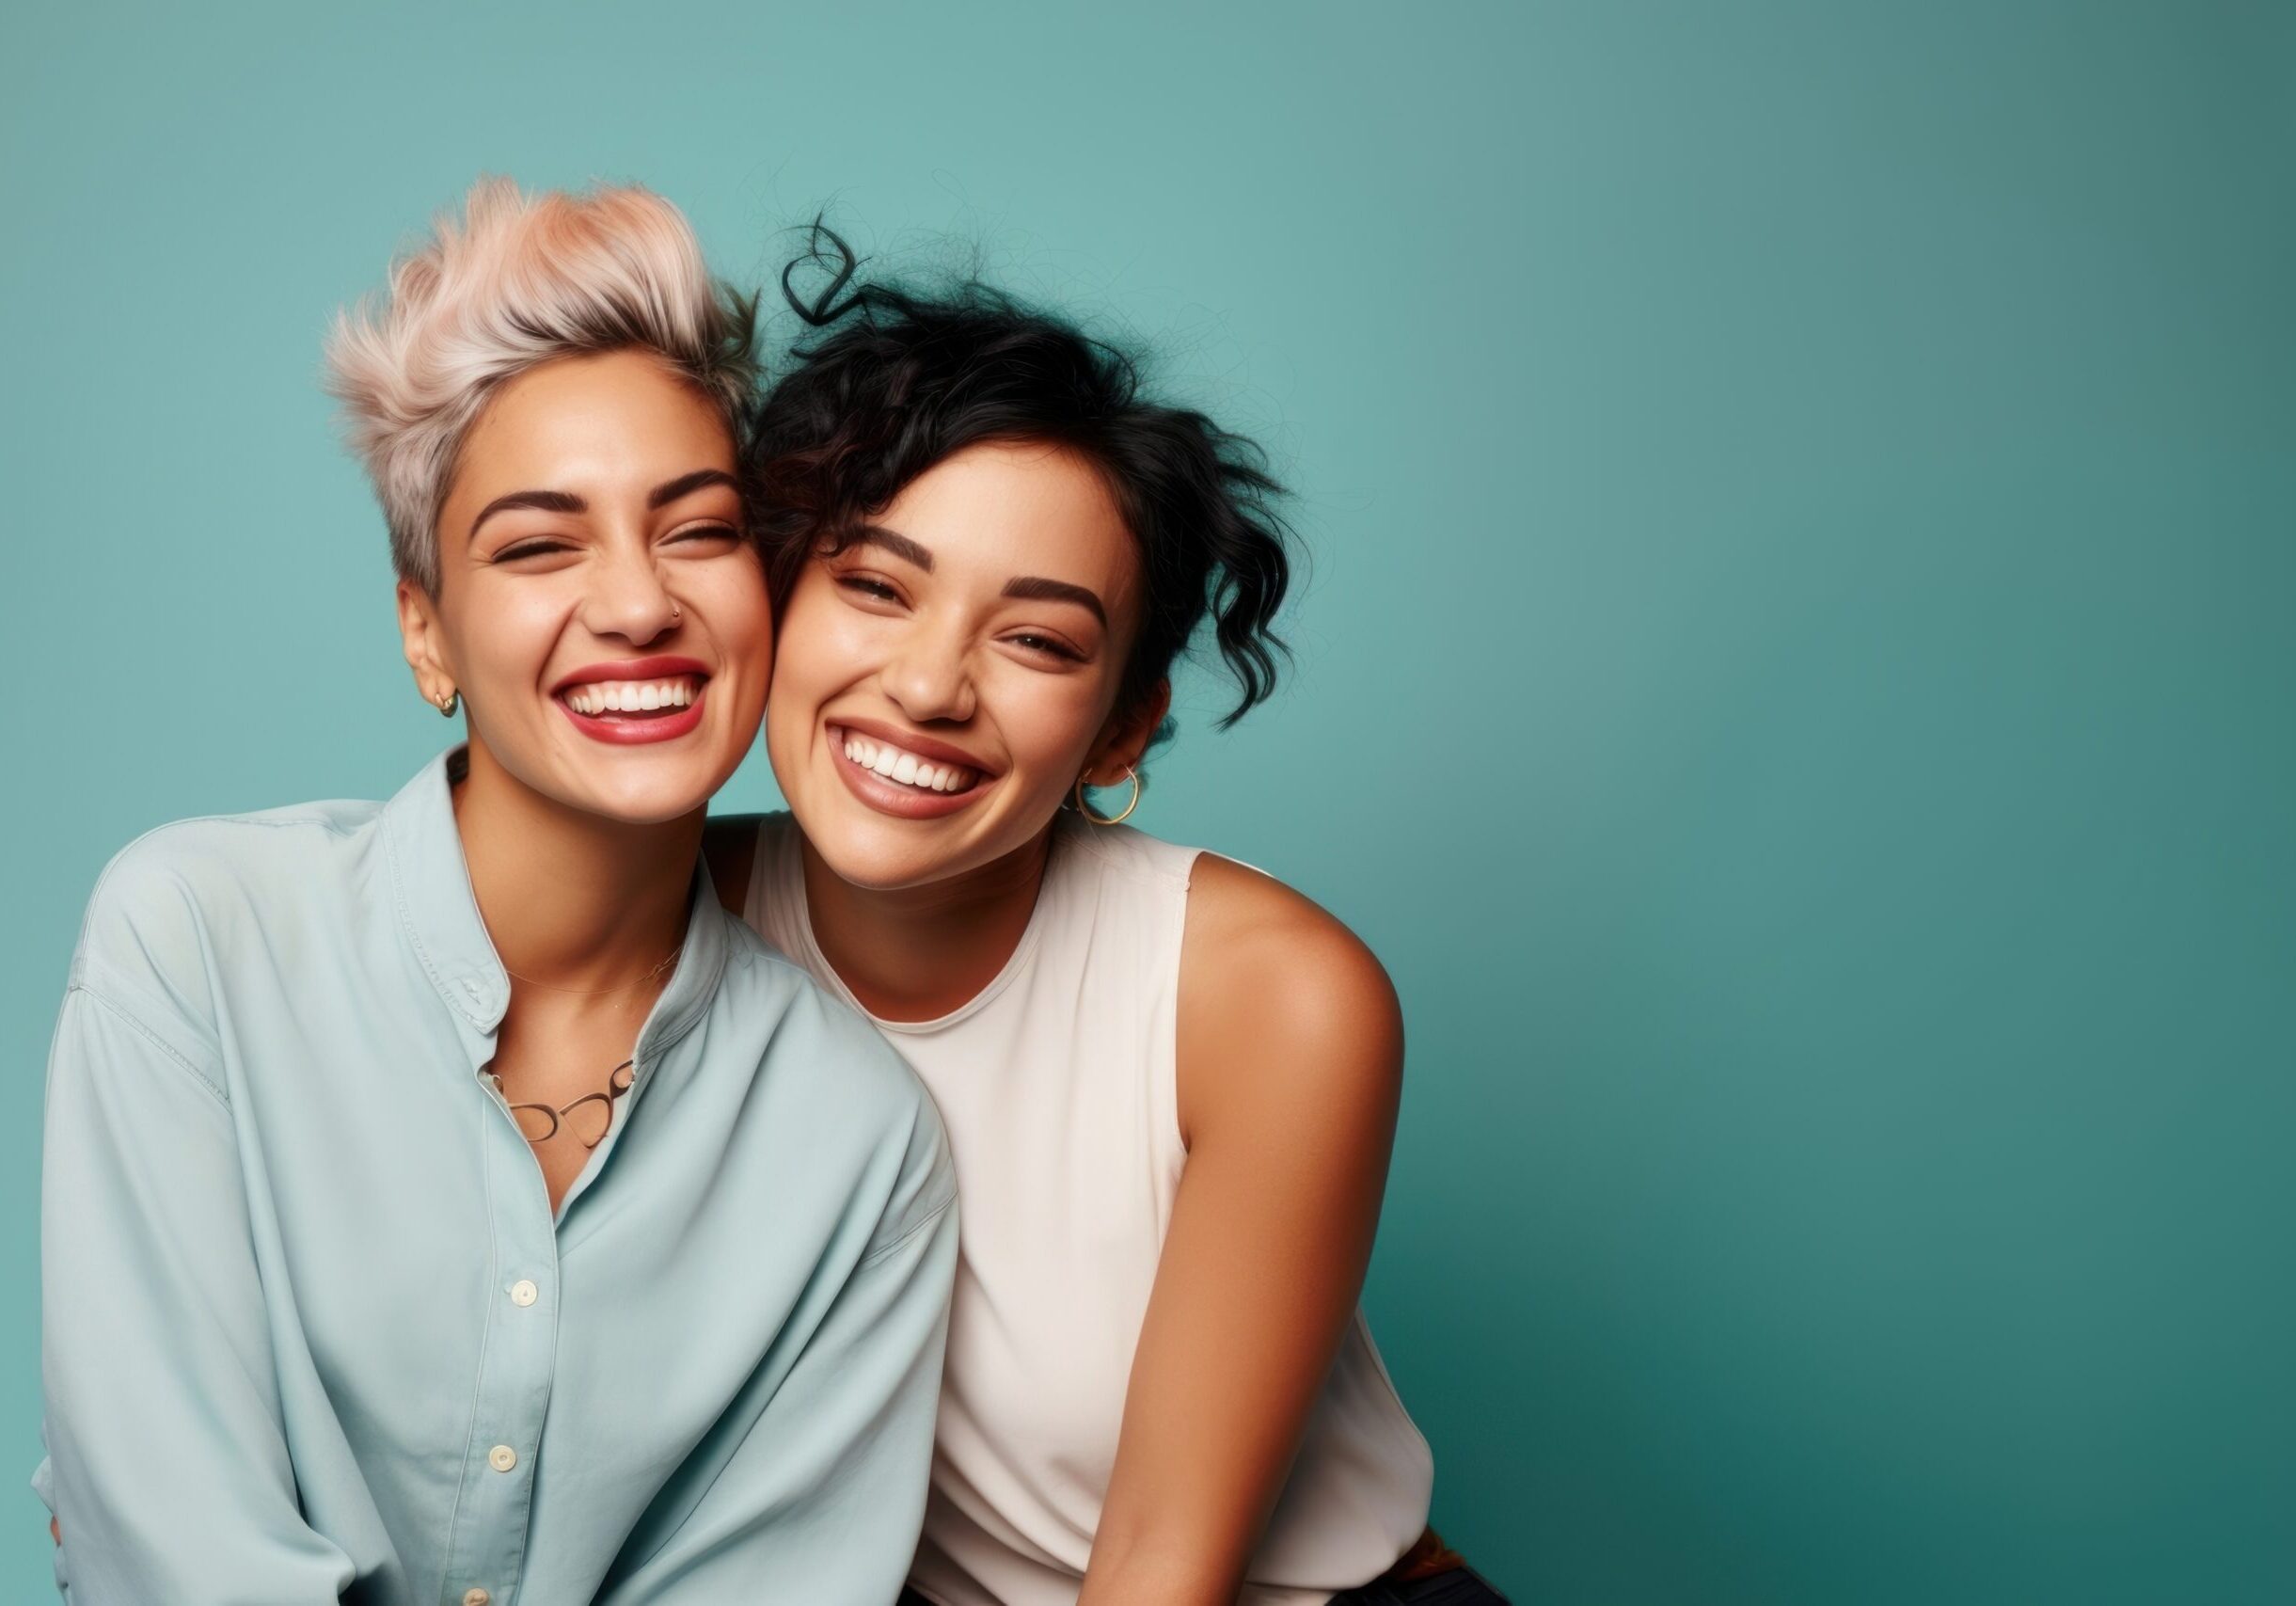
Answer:
[(76, 974), (48, 1057), (41, 1374), (64, 1595), (333, 1604), (351, 1565), (296, 1505), (232, 1112), (197, 1039)]

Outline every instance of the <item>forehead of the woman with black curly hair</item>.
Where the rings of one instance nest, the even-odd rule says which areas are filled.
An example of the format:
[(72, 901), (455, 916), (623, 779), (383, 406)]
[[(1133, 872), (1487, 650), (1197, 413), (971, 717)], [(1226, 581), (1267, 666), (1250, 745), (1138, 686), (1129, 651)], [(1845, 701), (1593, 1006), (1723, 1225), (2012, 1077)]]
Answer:
[(1003, 586), (1015, 574), (1130, 597), (1139, 554), (1107, 480), (1038, 441), (967, 446), (916, 476), (877, 522), (932, 549), (934, 577)]

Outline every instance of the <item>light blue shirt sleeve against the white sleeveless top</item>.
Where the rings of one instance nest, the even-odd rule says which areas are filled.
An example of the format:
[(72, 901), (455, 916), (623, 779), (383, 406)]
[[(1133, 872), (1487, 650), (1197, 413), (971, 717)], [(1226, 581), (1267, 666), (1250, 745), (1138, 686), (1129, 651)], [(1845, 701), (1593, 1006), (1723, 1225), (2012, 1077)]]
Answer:
[(889, 1606), (925, 1519), (955, 1266), (955, 1174), (921, 1103), (870, 1248), (762, 1408), (737, 1404), (687, 1468), (705, 1493), (599, 1606)]

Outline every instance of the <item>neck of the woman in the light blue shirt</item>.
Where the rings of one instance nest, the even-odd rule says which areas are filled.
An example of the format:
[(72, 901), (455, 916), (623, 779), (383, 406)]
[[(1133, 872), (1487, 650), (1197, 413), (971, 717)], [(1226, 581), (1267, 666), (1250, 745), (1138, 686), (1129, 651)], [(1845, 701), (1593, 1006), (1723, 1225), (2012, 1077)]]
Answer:
[(455, 829), (503, 967), (565, 993), (643, 981), (684, 940), (705, 811), (606, 820), (533, 790), (478, 740), (468, 754)]

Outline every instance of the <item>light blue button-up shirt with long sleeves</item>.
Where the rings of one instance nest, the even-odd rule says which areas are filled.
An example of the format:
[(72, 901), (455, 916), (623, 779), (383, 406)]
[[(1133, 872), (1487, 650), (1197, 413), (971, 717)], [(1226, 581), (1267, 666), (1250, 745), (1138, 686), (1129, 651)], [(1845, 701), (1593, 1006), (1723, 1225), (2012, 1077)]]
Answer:
[(507, 999), (445, 756), (103, 873), (41, 1195), (67, 1599), (900, 1592), (957, 1250), (930, 1098), (703, 871), (553, 1220), (482, 1075)]

